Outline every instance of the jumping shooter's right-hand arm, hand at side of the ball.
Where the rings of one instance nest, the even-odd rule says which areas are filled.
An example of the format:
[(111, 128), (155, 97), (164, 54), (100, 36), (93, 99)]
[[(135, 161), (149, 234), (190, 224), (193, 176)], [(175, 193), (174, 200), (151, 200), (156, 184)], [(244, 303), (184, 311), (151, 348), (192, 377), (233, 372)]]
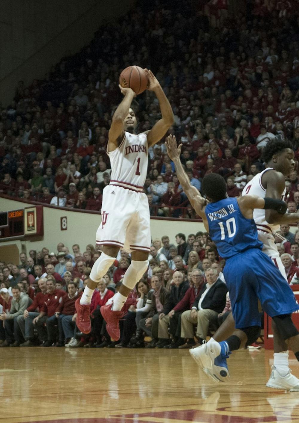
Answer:
[(158, 143), (160, 139), (164, 137), (171, 125), (174, 123), (174, 113), (155, 75), (152, 73), (152, 71), (149, 71), (148, 69), (144, 69), (144, 71), (149, 79), (149, 86), (147, 89), (149, 91), (154, 91), (154, 93), (156, 94), (162, 114), (162, 118), (155, 123), (155, 125), (152, 127), (152, 129), (150, 129), (149, 132), (147, 132), (147, 143), (150, 147)]

